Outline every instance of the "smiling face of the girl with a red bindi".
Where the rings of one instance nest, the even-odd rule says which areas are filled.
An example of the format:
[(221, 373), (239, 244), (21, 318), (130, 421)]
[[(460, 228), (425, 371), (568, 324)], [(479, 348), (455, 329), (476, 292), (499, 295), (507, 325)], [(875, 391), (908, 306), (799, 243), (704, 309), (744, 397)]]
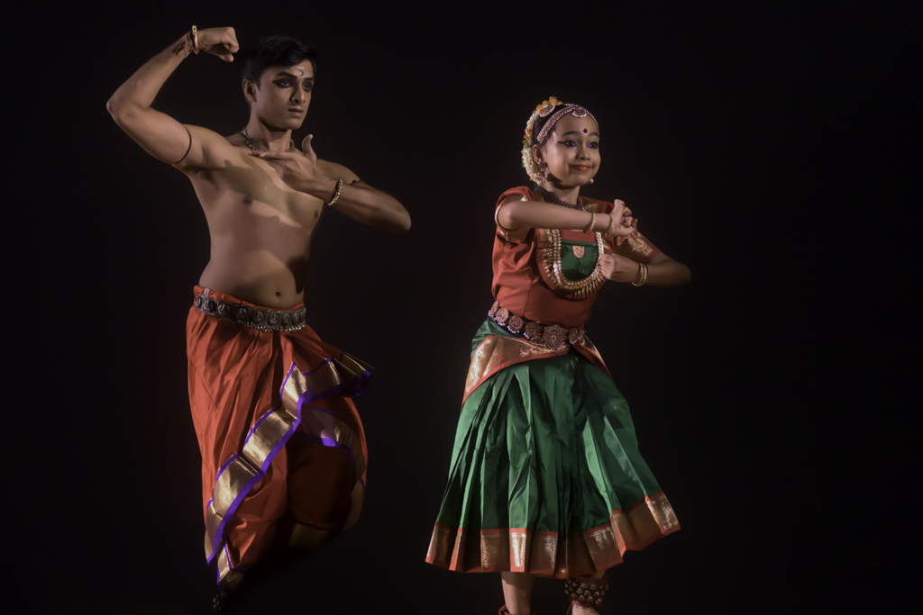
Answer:
[(544, 146), (533, 146), (539, 164), (547, 163), (545, 176), (560, 187), (589, 183), (599, 171), (599, 127), (592, 117), (567, 114), (557, 121)]

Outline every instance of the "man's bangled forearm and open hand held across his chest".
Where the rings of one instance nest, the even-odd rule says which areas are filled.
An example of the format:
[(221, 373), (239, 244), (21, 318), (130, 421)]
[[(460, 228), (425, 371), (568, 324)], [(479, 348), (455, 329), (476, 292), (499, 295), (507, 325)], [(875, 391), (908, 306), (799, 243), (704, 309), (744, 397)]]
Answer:
[(410, 214), (396, 198), (361, 182), (353, 171), (342, 164), (318, 160), (311, 148), (313, 135), (302, 142), (304, 153), (250, 151), (255, 158), (266, 160), (279, 173), (282, 181), (299, 192), (317, 196), (325, 203), (336, 194), (342, 180), (340, 195), (333, 207), (357, 222), (384, 231), (402, 233), (410, 230)]

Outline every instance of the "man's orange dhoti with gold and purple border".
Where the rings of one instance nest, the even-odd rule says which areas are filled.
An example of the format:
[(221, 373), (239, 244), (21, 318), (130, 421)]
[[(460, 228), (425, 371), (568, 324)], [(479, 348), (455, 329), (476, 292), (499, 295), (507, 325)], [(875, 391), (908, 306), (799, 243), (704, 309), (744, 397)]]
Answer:
[(192, 307), (186, 320), (205, 553), (231, 587), (272, 544), (296, 543), (299, 526), (335, 532), (358, 518), (367, 450), (349, 397), (362, 393), (372, 368), (309, 326), (235, 324), (220, 314), (260, 306), (201, 287), (196, 294), (210, 312)]

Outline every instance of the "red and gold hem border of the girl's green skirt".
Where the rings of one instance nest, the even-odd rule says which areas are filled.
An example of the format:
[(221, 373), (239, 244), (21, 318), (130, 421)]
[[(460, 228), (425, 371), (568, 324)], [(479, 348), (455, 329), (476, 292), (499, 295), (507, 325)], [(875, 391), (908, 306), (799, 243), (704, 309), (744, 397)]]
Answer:
[(622, 562), (626, 550), (641, 550), (678, 529), (677, 515), (661, 491), (626, 511), (613, 511), (602, 526), (567, 536), (517, 527), (469, 530), (437, 523), (426, 562), (462, 573), (509, 571), (569, 578), (611, 568)]

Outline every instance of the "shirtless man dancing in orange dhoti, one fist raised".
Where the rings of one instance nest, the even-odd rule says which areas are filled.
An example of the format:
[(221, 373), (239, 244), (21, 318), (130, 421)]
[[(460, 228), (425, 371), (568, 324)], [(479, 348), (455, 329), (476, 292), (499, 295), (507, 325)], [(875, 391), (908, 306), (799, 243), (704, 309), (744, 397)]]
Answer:
[(202, 454), (205, 552), (220, 609), (270, 552), (314, 550), (355, 523), (366, 439), (351, 396), (371, 367), (305, 324), (311, 233), (327, 206), (371, 226), (410, 229), (402, 205), (341, 164), (304, 153), (315, 52), (268, 37), (246, 58), (246, 128), (221, 136), (151, 108), (190, 54), (234, 61), (233, 28), (192, 30), (141, 66), (106, 108), (151, 156), (186, 173), (208, 220), (211, 254), (186, 321), (189, 400)]

